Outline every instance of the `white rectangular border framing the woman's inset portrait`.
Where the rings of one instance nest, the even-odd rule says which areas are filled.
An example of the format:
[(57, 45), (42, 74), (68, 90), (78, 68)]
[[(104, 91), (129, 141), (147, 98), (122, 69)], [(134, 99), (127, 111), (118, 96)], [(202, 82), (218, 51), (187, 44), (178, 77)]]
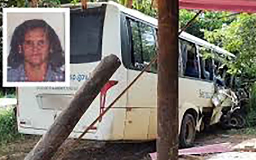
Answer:
[[(65, 82), (7, 82), (7, 13), (64, 13), (65, 14)], [(69, 87), (70, 35), (69, 8), (3, 8), (3, 87)]]

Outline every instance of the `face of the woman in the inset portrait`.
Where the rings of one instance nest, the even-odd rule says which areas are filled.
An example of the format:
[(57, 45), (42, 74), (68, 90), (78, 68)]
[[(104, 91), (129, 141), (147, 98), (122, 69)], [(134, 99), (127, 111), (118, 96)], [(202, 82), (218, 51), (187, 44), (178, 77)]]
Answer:
[(47, 62), (49, 40), (43, 28), (38, 27), (25, 33), (23, 49), (25, 63), (37, 66)]

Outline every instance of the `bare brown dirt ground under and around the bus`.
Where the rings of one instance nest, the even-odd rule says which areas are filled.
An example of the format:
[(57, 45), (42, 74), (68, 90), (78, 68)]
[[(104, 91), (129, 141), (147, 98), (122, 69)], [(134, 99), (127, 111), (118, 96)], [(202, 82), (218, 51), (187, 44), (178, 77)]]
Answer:
[[(226, 132), (212, 129), (208, 133), (197, 134), (196, 146), (215, 143), (241, 143), (256, 138), (256, 135), (228, 135)], [(40, 136), (25, 136), (0, 147), (0, 160), (23, 160), (35, 146)], [(145, 143), (99, 143), (83, 140), (79, 148), (72, 150), (65, 160), (151, 160), (148, 153), (156, 151), (155, 141)], [(204, 155), (207, 159), (212, 155)]]

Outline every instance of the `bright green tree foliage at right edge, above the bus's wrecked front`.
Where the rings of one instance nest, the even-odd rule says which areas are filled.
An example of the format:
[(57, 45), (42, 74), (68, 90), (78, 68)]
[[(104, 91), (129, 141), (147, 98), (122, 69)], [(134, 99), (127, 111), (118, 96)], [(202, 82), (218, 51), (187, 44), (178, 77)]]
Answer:
[(256, 76), (256, 15), (240, 14), (229, 25), (214, 31), (205, 31), (205, 38), (237, 56), (229, 65), (230, 73)]

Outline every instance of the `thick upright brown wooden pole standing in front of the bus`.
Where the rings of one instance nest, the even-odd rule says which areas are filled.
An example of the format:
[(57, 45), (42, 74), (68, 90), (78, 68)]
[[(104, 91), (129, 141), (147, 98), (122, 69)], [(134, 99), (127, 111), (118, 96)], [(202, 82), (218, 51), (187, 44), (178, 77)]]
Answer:
[(178, 6), (158, 0), (158, 160), (178, 160)]

